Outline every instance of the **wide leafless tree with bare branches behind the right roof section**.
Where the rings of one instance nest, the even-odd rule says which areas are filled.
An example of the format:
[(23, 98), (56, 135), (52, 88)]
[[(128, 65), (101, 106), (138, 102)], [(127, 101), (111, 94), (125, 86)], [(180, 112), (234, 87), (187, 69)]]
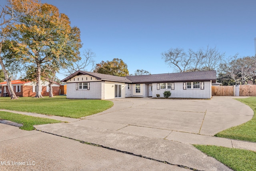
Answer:
[(198, 51), (191, 49), (185, 52), (182, 48), (171, 48), (167, 52), (161, 54), (164, 62), (173, 67), (177, 72), (188, 71), (209, 71), (216, 70), (225, 53), (219, 52), (216, 47), (206, 49), (201, 48)]

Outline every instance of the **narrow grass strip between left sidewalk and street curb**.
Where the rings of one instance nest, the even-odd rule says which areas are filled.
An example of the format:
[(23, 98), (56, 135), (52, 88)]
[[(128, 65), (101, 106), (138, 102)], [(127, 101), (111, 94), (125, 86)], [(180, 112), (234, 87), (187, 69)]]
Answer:
[(17, 114), (17, 113), (6, 112), (6, 111), (0, 111), (0, 119), (13, 121), (16, 123), (22, 123), (23, 126), (20, 127), (20, 129), (24, 129), (27, 131), (33, 130), (34, 129), (33, 125), (42, 125), (42, 124), (47, 124), (47, 123), (60, 123), (61, 122), (61, 121), (57, 121), (54, 119), (21, 115), (21, 114)]

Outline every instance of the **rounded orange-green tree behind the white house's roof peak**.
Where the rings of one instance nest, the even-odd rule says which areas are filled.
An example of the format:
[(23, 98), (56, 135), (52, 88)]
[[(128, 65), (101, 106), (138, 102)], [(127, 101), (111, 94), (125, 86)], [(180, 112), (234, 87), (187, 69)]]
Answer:
[(96, 64), (94, 72), (113, 76), (129, 75), (127, 64), (125, 64), (123, 60), (118, 58), (114, 58), (112, 61), (102, 61), (100, 64)]

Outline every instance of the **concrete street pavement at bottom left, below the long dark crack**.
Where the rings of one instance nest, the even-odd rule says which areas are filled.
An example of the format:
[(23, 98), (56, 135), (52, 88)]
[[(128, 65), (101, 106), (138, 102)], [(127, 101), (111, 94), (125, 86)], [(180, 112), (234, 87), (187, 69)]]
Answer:
[(1, 171), (186, 171), (72, 139), (0, 123)]

